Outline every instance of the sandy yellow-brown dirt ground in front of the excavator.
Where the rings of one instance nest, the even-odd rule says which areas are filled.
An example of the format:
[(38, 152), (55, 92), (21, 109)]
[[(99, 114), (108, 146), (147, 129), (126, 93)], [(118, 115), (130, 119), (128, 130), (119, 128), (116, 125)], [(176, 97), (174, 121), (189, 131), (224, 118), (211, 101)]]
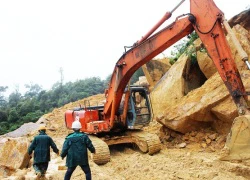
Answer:
[[(166, 130), (162, 130), (161, 125), (153, 122), (145, 131), (160, 136), (163, 143), (159, 153), (151, 156), (140, 152), (137, 147), (131, 144), (111, 146), (111, 161), (109, 163), (96, 165), (90, 158), (93, 180), (250, 179), (250, 161), (219, 160), (225, 137), (221, 138), (211, 130), (185, 135), (169, 131), (166, 133)], [(55, 136), (51, 133), (51, 135), (61, 149), (66, 134), (65, 136), (63, 134)], [(206, 137), (211, 137), (214, 141), (209, 141)], [(52, 153), (46, 179), (63, 179), (66, 172), (64, 165), (65, 160), (61, 160), (60, 157)], [(62, 170), (58, 170), (58, 167)], [(5, 179), (32, 180), (34, 178), (34, 170), (30, 167), (18, 170), (13, 176)], [(85, 179), (84, 173), (79, 167), (73, 173), (72, 179)]]

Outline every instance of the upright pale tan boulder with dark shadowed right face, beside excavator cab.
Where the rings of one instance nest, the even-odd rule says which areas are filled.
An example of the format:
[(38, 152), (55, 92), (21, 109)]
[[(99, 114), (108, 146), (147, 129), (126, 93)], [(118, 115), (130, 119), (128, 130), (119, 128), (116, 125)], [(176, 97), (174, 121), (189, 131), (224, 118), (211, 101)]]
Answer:
[(192, 62), (184, 53), (151, 91), (154, 116), (161, 116), (166, 109), (205, 81), (206, 77), (198, 63)]

